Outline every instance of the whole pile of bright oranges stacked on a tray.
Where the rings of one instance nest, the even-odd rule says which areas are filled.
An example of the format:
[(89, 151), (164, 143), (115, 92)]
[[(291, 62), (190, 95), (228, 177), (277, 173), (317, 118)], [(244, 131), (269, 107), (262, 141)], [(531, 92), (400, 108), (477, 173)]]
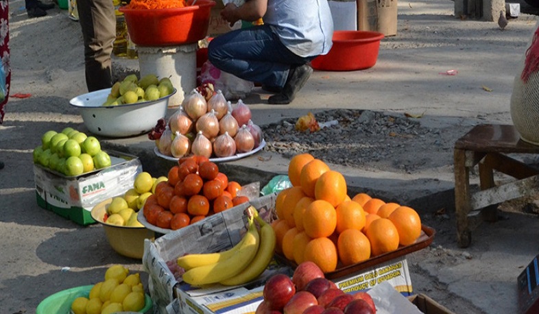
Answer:
[(298, 265), (312, 261), (334, 271), (414, 243), (421, 234), (416, 210), (367, 193), (350, 199), (342, 173), (311, 154), (291, 158), (292, 186), (276, 198), (276, 252)]

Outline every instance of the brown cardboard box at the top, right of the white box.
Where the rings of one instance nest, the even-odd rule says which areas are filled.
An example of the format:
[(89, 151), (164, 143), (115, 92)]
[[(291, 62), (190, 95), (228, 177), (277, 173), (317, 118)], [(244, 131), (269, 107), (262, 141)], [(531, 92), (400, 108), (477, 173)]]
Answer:
[(357, 0), (357, 29), (397, 34), (397, 0)]

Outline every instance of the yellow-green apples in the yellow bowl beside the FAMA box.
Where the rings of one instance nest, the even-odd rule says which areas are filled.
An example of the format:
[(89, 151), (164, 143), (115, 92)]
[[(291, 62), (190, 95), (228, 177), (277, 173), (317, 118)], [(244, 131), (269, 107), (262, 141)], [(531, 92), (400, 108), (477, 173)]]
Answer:
[(167, 181), (167, 177), (153, 178), (147, 172), (136, 175), (132, 189), (123, 195), (112, 197), (103, 217), (105, 224), (125, 227), (143, 227), (137, 220), (137, 213), (143, 208), (146, 199), (154, 194), (159, 182)]

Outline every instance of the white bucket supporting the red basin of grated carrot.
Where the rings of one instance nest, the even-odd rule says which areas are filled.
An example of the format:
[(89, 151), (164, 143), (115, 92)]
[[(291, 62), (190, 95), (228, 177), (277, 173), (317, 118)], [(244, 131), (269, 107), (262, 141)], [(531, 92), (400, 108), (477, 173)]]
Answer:
[(182, 104), (185, 94), (197, 84), (197, 44), (170, 47), (137, 46), (141, 77), (155, 74), (158, 78), (170, 77), (178, 90), (169, 99), (169, 107)]

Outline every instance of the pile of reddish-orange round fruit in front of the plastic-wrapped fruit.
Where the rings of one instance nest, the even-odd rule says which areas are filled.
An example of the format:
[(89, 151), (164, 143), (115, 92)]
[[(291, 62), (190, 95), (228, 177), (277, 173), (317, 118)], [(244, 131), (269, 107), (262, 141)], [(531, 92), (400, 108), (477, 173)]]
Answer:
[(217, 164), (204, 156), (181, 158), (167, 178), (156, 185), (143, 208), (148, 223), (159, 228), (178, 230), (249, 201), (237, 195), (241, 185), (228, 181)]

